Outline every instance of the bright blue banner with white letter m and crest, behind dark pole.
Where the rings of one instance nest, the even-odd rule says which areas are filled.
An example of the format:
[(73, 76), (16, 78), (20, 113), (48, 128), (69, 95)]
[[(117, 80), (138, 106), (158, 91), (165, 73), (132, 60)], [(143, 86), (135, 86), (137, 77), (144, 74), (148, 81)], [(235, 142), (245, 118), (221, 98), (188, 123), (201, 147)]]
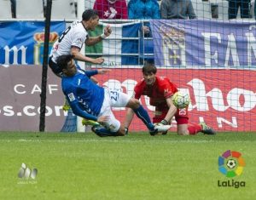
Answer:
[[(51, 22), (49, 50), (65, 30), (65, 22)], [(0, 64), (41, 65), (44, 52), (44, 22), (15, 21), (0, 23)]]

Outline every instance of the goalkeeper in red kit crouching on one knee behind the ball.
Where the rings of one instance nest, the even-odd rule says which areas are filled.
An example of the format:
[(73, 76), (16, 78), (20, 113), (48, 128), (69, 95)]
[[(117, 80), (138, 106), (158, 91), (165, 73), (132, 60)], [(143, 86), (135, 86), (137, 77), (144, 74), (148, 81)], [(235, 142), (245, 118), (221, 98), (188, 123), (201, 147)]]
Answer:
[[(149, 97), (151, 106), (155, 106), (153, 123), (164, 125), (172, 122), (175, 117), (177, 122), (177, 134), (216, 134), (206, 123), (189, 123), (188, 108), (178, 109), (172, 103), (172, 95), (177, 92), (177, 86), (167, 77), (156, 76), (156, 67), (153, 64), (143, 66), (143, 80), (134, 88), (135, 99), (139, 100), (142, 95)], [(125, 128), (128, 132), (134, 112), (129, 109), (126, 114)], [(167, 132), (166, 132), (167, 133)], [(166, 134), (163, 133), (163, 134)]]

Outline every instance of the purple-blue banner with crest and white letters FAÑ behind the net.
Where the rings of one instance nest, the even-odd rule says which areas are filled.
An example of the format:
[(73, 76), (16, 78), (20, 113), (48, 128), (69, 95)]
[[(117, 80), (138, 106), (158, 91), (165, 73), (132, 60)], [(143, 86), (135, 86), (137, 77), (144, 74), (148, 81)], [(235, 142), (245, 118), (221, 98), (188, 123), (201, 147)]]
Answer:
[(255, 22), (150, 20), (156, 66), (256, 68)]

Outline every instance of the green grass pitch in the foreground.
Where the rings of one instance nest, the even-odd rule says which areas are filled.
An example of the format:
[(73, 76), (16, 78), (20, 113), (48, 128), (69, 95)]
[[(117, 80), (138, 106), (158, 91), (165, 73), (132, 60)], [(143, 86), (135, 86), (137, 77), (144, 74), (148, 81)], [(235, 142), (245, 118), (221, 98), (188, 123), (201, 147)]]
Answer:
[[(129, 134), (0, 134), (0, 199), (255, 199), (256, 133), (215, 136)], [(218, 172), (218, 156), (240, 151), (240, 176)], [(18, 178), (21, 163), (38, 169)], [(246, 186), (218, 186), (230, 181)]]

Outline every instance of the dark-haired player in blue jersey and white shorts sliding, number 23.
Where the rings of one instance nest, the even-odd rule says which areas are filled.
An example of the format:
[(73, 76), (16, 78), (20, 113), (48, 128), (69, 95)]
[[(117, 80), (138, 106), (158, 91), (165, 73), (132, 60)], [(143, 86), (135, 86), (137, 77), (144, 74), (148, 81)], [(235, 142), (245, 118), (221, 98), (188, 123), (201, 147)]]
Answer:
[(158, 131), (170, 129), (170, 125), (154, 126), (148, 112), (140, 105), (139, 100), (130, 98), (119, 91), (104, 89), (90, 80), (90, 77), (106, 70), (78, 71), (72, 54), (61, 55), (57, 65), (63, 72), (61, 87), (66, 95), (73, 113), (79, 117), (96, 121), (102, 126), (92, 130), (99, 136), (123, 136), (125, 127), (113, 116), (111, 107), (129, 107), (154, 135)]

